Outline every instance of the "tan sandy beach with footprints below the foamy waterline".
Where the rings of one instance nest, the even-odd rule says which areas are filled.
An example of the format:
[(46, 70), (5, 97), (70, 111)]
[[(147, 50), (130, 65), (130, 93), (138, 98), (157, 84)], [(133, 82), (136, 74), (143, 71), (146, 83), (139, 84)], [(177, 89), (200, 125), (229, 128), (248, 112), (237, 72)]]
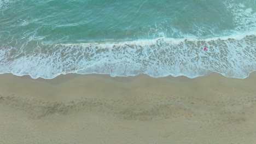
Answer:
[(256, 143), (247, 79), (0, 75), (0, 143)]

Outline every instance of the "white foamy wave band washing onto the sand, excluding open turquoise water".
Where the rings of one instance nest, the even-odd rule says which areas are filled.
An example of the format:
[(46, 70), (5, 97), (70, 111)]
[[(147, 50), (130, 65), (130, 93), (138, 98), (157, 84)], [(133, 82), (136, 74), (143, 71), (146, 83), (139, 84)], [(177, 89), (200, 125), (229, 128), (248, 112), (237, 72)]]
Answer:
[[(187, 76), (213, 72), (245, 78), (256, 70), (256, 35), (212, 39), (171, 39), (60, 44), (34, 44), (24, 52), (2, 46), (0, 73), (53, 79), (60, 74), (109, 74), (111, 76)], [(203, 50), (204, 48), (207, 50)]]

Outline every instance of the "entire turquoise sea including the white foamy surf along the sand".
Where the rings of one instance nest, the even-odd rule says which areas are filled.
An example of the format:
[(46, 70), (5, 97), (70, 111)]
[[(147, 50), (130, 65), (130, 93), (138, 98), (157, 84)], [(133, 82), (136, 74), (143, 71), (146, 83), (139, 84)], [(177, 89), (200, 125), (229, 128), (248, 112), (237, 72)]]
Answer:
[(256, 0), (0, 0), (0, 74), (243, 79), (256, 70), (255, 10)]

